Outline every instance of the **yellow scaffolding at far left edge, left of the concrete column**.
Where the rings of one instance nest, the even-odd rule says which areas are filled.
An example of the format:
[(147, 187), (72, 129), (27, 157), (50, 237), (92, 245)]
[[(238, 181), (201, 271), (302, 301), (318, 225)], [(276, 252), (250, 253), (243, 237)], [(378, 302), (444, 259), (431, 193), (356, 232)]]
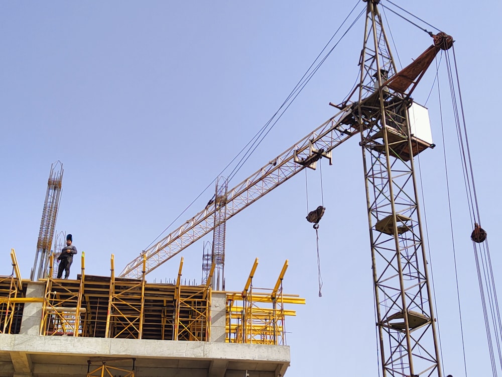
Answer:
[[(0, 276), (0, 333), (16, 334), (23, 315), (23, 282), (16, 252), (11, 249), (12, 273)], [(21, 299), (21, 300), (20, 300)]]

